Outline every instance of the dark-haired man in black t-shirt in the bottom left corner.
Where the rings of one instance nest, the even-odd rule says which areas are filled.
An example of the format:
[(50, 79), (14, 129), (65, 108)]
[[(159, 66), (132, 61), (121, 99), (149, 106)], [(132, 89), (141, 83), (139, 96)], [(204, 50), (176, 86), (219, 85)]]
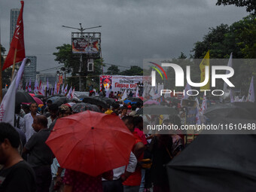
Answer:
[(0, 191), (36, 191), (35, 173), (17, 150), (20, 138), (9, 123), (0, 123)]

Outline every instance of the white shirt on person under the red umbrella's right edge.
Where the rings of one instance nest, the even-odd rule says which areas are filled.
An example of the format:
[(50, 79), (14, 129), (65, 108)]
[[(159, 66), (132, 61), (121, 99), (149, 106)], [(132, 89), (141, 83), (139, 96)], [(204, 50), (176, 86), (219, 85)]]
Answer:
[[(136, 156), (133, 154), (133, 152), (131, 152), (126, 171), (135, 172), (136, 166), (137, 166)], [(117, 169), (113, 169), (113, 174), (114, 174), (113, 180), (117, 180), (118, 178), (120, 178), (120, 176), (125, 172), (125, 167), (126, 166), (120, 166)], [(102, 178), (102, 181), (106, 181), (105, 178)]]

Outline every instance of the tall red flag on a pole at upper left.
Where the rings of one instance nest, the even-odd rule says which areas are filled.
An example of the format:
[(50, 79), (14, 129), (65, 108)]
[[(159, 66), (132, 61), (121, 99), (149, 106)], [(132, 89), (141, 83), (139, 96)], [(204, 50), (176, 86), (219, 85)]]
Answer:
[(15, 63), (23, 61), (23, 59), (25, 58), (24, 35), (23, 35), (24, 2), (23, 1), (20, 1), (20, 2), (21, 2), (20, 14), (17, 19), (17, 25), (16, 25), (16, 29), (14, 32), (14, 37), (11, 41), (10, 50), (8, 52), (8, 56), (5, 59), (5, 63), (4, 63), (2, 70), (5, 70), (6, 68), (8, 68), (9, 66), (12, 66), (14, 64), (15, 49), (17, 49)]

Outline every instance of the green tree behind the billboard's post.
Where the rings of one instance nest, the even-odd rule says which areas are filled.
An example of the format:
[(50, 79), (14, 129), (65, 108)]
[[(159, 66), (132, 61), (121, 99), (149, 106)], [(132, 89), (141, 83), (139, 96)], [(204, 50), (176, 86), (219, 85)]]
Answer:
[(103, 59), (94, 59), (94, 72), (87, 72), (86, 68), (86, 60), (87, 58), (83, 55), (83, 64), (81, 65), (80, 71), (80, 57), (81, 54), (72, 53), (72, 45), (71, 44), (62, 44), (62, 46), (56, 47), (58, 50), (56, 53), (53, 53), (56, 56), (55, 60), (59, 62), (59, 64), (64, 64), (65, 67), (72, 69), (72, 77), (67, 78), (67, 83), (72, 84), (72, 87), (76, 87), (78, 90), (79, 87), (79, 75), (81, 75), (81, 82), (84, 84), (82, 90), (87, 89), (87, 81), (94, 82), (97, 84), (99, 81), (99, 75), (102, 74)]

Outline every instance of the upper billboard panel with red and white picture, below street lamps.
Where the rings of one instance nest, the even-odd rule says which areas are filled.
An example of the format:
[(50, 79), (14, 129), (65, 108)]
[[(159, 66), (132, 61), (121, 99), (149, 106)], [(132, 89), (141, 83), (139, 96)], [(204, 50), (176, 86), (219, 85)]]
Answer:
[(100, 33), (72, 33), (72, 53), (86, 54), (93, 59), (100, 58)]

